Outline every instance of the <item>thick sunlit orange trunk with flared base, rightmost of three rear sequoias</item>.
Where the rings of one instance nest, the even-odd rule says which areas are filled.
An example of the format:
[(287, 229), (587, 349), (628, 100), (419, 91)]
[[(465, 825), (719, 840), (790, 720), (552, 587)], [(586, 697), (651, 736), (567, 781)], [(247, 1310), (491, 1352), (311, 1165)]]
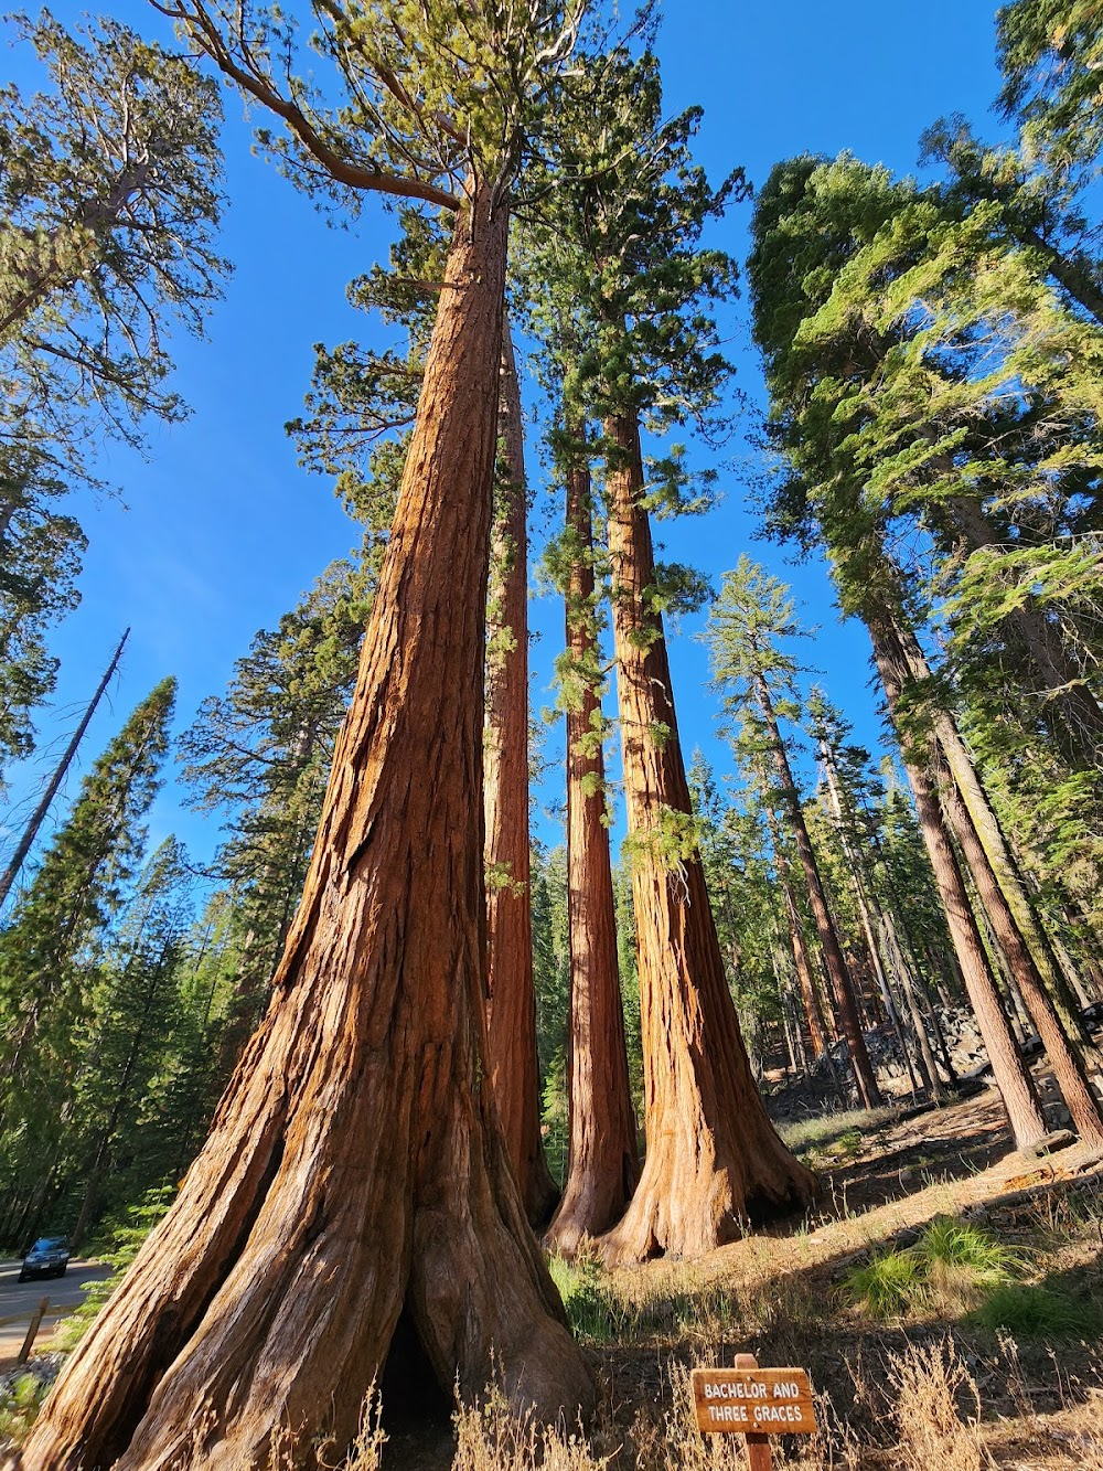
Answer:
[(754, 1087), (693, 831), (654, 581), (640, 430), (606, 424), (613, 634), (640, 966), (647, 1159), (610, 1259), (700, 1256), (804, 1206), (815, 1177)]

